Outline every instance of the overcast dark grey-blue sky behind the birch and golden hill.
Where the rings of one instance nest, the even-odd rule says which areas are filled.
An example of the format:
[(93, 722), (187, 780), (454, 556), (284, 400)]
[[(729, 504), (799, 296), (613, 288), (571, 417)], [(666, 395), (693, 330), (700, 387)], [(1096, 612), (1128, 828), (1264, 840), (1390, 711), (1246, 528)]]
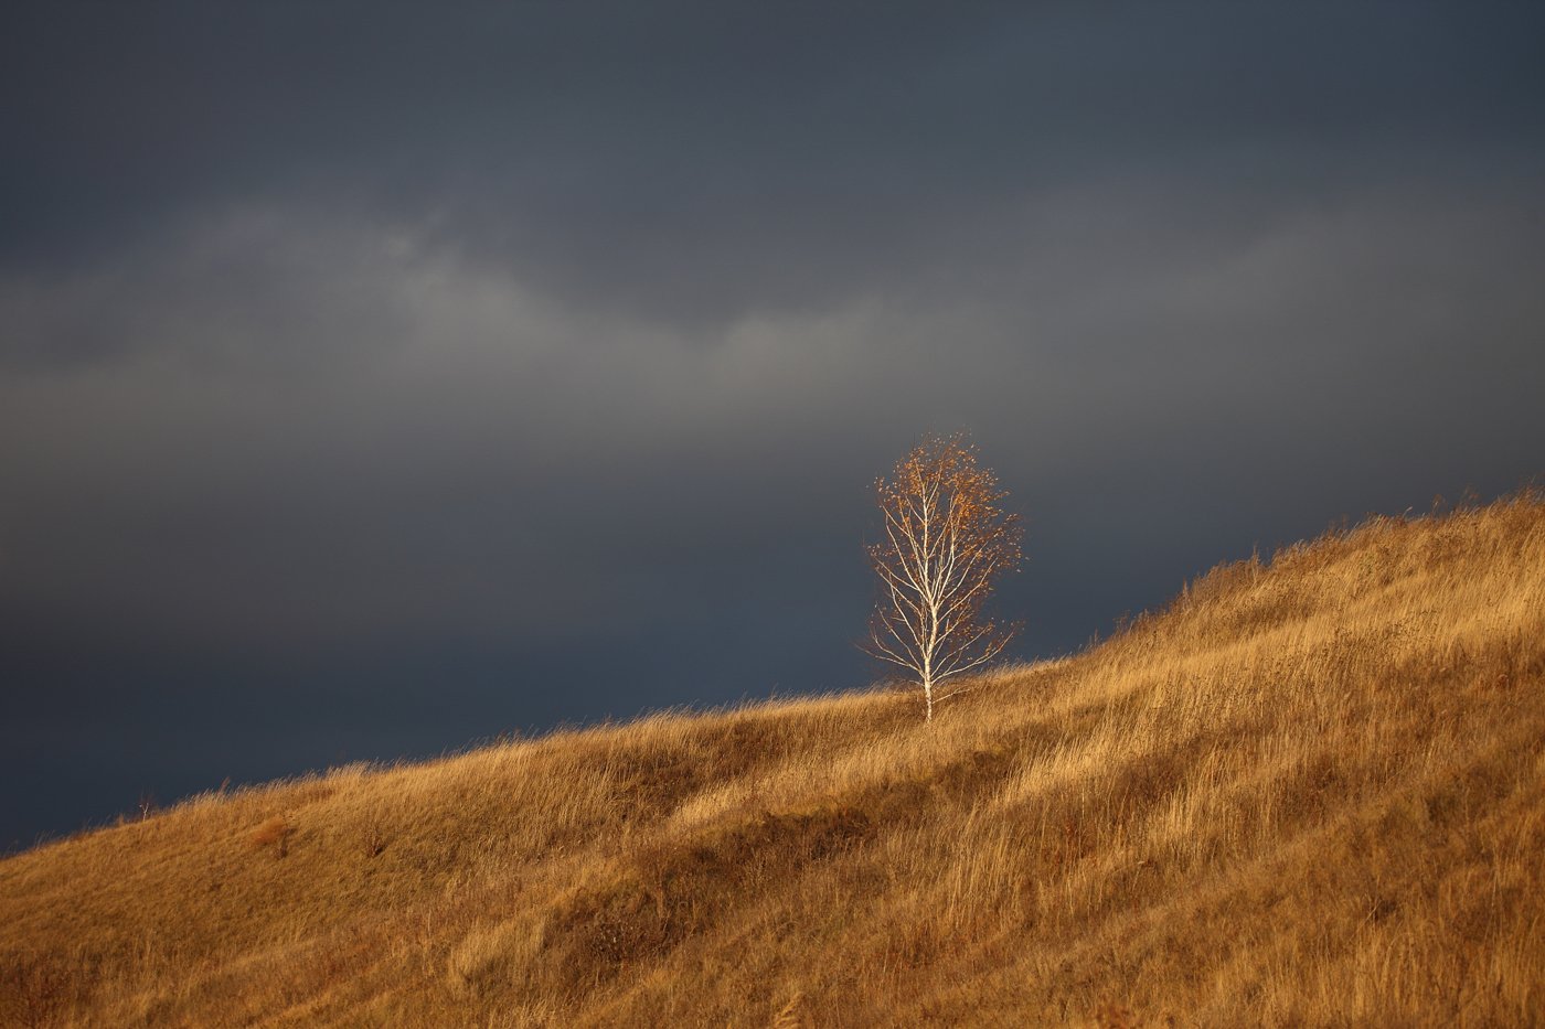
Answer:
[(1540, 5), (453, 6), (8, 6), (0, 848), (864, 686), (930, 431), (1024, 658), (1545, 471)]

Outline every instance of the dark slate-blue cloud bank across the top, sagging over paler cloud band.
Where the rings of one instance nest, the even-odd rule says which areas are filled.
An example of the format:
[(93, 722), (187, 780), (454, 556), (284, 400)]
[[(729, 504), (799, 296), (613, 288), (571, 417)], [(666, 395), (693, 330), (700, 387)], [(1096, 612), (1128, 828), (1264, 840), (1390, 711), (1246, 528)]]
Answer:
[(5, 62), (6, 252), (324, 196), (586, 304), (725, 317), (884, 283), (1089, 175), (1312, 201), (1488, 161), (1545, 93), (1522, 9), (828, 6), (42, 9)]

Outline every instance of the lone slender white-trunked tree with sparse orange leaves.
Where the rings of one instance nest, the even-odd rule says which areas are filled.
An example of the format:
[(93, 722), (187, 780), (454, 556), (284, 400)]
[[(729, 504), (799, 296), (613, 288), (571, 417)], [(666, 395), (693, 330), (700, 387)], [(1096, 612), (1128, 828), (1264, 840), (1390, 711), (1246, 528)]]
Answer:
[(998, 477), (959, 436), (927, 437), (874, 484), (885, 536), (868, 545), (881, 593), (867, 654), (922, 686), (925, 718), (941, 683), (998, 657), (1018, 632), (983, 616), (995, 579), (1018, 569), (1023, 528), (998, 502)]

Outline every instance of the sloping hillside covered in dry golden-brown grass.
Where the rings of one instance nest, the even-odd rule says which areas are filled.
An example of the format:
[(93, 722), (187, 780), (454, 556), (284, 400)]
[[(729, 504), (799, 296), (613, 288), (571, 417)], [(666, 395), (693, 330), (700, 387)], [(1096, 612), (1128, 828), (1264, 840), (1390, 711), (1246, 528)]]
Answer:
[(1522, 498), (1219, 567), (933, 726), (661, 715), (9, 858), (0, 1023), (1542, 1023), (1542, 861)]

